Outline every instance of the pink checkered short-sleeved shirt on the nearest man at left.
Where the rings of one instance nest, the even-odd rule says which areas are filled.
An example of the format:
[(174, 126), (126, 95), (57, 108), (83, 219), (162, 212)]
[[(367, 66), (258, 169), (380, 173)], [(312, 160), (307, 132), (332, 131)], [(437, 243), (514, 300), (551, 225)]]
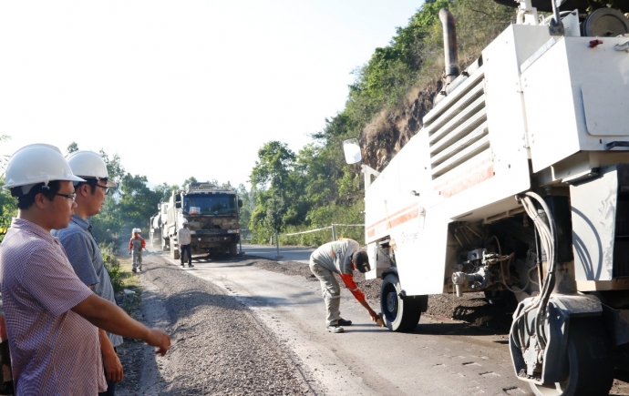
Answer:
[(71, 310), (92, 291), (59, 240), (14, 218), (0, 245), (0, 284), (16, 394), (105, 391), (98, 329)]

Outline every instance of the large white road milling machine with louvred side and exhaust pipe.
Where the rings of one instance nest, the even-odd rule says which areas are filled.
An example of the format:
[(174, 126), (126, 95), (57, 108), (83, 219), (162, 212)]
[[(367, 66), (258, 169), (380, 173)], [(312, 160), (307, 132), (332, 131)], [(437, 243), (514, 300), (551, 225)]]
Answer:
[[(629, 362), (629, 2), (504, 3), (517, 23), (462, 71), (441, 10), (434, 107), (386, 168), (362, 166), (366, 278), (393, 331), (430, 294), (515, 296), (515, 375), (606, 395)], [(362, 160), (358, 139), (344, 149)]]

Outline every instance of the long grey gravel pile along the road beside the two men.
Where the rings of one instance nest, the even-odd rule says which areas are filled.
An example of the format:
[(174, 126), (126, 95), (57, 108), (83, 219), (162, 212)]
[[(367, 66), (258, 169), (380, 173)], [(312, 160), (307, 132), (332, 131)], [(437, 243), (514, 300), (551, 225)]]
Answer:
[[(122, 346), (125, 380), (119, 395), (321, 394), (299, 361), (283, 350), (253, 313), (211, 283), (147, 255), (139, 275), (143, 308), (137, 319), (166, 329), (172, 346), (154, 358), (142, 342)], [(155, 315), (159, 307), (162, 317)]]

